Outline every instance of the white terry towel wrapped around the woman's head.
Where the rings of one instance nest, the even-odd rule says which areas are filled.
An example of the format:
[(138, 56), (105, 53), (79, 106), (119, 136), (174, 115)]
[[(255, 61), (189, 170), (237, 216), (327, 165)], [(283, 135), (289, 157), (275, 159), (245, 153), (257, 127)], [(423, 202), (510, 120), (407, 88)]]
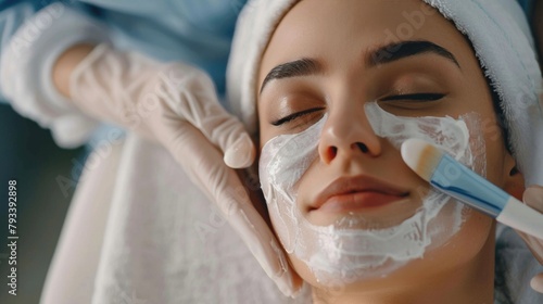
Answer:
[[(249, 131), (257, 130), (260, 62), (282, 16), (299, 0), (250, 1), (238, 21), (227, 74), (232, 111)], [(471, 41), (500, 97), (509, 144), (527, 185), (543, 185), (541, 71), (530, 29), (516, 0), (421, 0), (435, 8)]]

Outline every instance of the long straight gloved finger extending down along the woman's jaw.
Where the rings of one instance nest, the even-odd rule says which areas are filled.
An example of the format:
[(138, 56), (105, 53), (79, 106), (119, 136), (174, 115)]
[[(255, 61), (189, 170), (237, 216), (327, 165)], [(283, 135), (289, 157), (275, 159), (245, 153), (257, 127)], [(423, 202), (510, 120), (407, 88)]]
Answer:
[(253, 206), (242, 181), (223, 162), (220, 152), (200, 130), (180, 122), (178, 132), (164, 142), (191, 179), (215, 202), (266, 274), (286, 295), (292, 295), (295, 273), (279, 243)]

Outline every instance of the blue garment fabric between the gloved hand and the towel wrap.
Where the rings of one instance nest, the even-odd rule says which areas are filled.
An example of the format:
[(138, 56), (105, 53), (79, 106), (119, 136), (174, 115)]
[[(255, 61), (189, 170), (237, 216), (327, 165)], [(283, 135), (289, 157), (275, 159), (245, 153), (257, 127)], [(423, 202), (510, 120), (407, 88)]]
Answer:
[(226, 66), (245, 0), (81, 0), (111, 30), (115, 48), (204, 69), (223, 96)]

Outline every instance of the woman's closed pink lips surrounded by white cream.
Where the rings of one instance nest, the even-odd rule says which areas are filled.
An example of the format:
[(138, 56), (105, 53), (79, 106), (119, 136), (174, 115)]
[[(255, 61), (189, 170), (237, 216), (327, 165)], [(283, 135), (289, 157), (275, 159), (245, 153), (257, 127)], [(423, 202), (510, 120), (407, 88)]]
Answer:
[(316, 197), (310, 211), (349, 212), (375, 208), (402, 200), (408, 194), (407, 190), (374, 177), (340, 177)]

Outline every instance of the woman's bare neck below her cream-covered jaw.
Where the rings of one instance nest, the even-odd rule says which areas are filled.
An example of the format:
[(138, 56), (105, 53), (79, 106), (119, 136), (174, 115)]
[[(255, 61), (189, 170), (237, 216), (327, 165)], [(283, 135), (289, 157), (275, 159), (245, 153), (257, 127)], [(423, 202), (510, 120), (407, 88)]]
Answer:
[[(341, 291), (313, 289), (314, 303), (493, 303), (494, 238), (491, 237), (473, 258), (445, 267), (428, 277), (419, 275), (364, 282)], [(455, 264), (455, 263), (451, 263)], [(384, 286), (384, 288), (383, 288)], [(390, 288), (393, 287), (393, 288)]]

